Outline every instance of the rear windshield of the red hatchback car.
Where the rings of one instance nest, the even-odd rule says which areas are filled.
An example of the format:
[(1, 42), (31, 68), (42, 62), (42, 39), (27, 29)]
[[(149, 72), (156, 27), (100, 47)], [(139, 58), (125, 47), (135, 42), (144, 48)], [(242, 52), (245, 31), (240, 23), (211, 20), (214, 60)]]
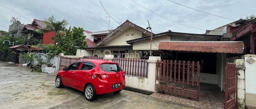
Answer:
[(100, 68), (105, 72), (121, 72), (122, 69), (117, 64), (100, 64)]

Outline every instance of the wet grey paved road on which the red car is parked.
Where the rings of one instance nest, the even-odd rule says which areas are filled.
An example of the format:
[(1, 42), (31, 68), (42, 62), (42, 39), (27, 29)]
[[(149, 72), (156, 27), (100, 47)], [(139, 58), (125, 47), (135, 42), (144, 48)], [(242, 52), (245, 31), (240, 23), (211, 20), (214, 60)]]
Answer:
[(190, 109), (126, 90), (100, 95), (89, 102), (83, 92), (57, 89), (54, 79), (55, 74), (34, 73), (0, 61), (0, 109)]

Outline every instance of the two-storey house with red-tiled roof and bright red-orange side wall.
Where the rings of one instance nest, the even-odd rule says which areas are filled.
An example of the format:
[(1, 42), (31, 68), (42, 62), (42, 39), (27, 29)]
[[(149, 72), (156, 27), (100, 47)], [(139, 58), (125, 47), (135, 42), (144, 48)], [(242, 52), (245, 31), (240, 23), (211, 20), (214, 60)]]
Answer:
[(43, 44), (54, 44), (52, 38), (55, 36), (55, 32), (49, 32), (39, 34), (35, 30), (38, 28), (44, 28), (45, 24), (42, 20), (34, 19), (31, 25), (25, 25), (20, 33), (28, 35), (29, 37), (42, 40)]

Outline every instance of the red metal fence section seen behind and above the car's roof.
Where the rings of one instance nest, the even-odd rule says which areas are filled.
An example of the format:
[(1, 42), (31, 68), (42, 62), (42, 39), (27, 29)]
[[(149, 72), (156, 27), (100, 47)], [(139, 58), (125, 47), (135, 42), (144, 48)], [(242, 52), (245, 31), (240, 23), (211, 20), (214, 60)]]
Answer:
[(64, 67), (67, 67), (71, 63), (80, 60), (80, 59), (95, 59), (95, 60), (103, 60), (104, 57), (93, 57), (93, 56), (84, 56), (83, 58), (72, 58), (72, 57), (60, 57), (59, 61), (59, 70)]

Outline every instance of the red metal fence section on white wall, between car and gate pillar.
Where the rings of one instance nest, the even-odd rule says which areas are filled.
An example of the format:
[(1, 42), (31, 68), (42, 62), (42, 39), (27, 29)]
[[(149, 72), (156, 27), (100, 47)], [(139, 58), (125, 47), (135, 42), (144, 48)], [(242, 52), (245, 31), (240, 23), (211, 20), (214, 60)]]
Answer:
[(117, 62), (126, 75), (144, 78), (148, 76), (148, 63), (146, 59), (114, 58), (113, 62)]

